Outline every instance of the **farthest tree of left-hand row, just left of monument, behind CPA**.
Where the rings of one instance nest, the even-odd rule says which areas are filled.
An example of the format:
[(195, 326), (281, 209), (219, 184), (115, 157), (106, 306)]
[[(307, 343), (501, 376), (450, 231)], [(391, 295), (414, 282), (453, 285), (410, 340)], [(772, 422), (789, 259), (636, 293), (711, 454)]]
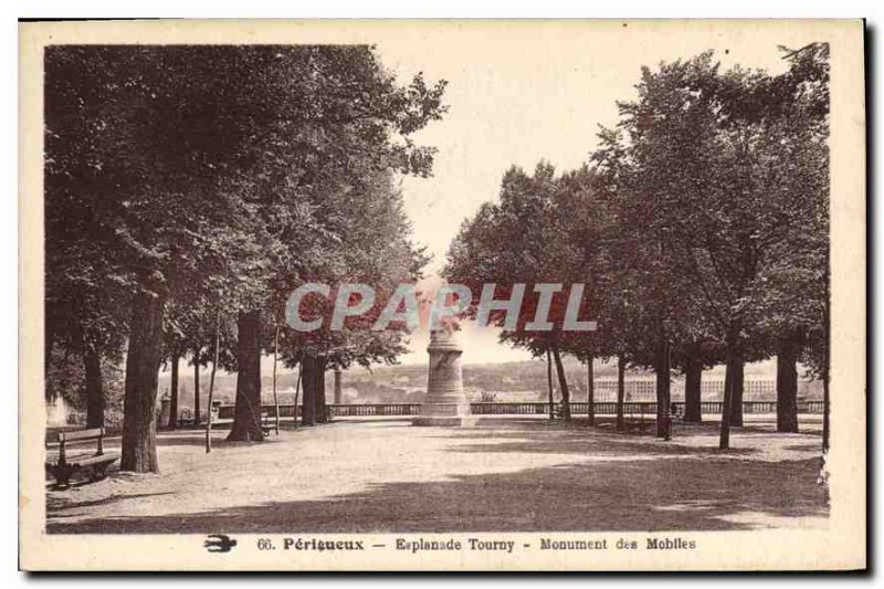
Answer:
[[(327, 298), (308, 297), (301, 314), (323, 319), (323, 326), (311, 333), (283, 329), (280, 350), (285, 366), (298, 364), (304, 368), (304, 423), (326, 420), (322, 385), (326, 370), (348, 368), (354, 365), (393, 364), (407, 351), (408, 325), (393, 322), (387, 329), (372, 326), (400, 284), (410, 284), (421, 277), (427, 262), (422, 250), (410, 241), (411, 227), (402, 206), (402, 197), (394, 186), (390, 170), (373, 177), (362, 177), (361, 190), (339, 196), (337, 214), (339, 239), (328, 243), (323, 254), (309, 260), (309, 271), (302, 271), (330, 287)], [(295, 278), (292, 278), (293, 281)], [(316, 278), (312, 278), (316, 280)], [(274, 287), (274, 314), (283, 316), (288, 287), (298, 283), (281, 280), (285, 286)], [(340, 329), (330, 328), (338, 292), (354, 283), (368, 284), (375, 292), (370, 308), (359, 316), (347, 317)], [(360, 295), (351, 294), (348, 305), (359, 303)], [(269, 344), (275, 332), (267, 330)]]

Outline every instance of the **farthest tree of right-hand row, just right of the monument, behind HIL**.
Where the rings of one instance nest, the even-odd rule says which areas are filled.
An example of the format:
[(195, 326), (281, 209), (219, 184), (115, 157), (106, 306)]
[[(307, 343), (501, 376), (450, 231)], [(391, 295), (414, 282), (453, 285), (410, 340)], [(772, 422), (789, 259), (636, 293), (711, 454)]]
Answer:
[[(587, 181), (568, 178), (568, 181)], [(569, 334), (562, 330), (570, 285), (582, 283), (586, 264), (585, 244), (569, 239), (564, 207), (571, 192), (562, 190), (566, 180), (556, 178), (555, 168), (537, 165), (534, 176), (513, 167), (503, 177), (499, 203), (483, 204), (473, 219), (462, 225), (452, 242), (443, 276), (481, 293), (485, 284), (494, 284), (495, 298), (513, 296), (514, 286), (525, 291), (517, 318), (501, 340), (527, 348), (534, 356), (549, 353), (556, 366), (562, 399), (562, 418), (570, 421), (570, 388), (561, 356), (573, 349)], [(540, 307), (541, 295), (536, 285), (559, 284), (549, 301), (550, 329), (540, 329), (533, 319)], [(583, 305), (583, 317), (587, 309)], [(467, 316), (476, 316), (478, 297), (473, 297)], [(490, 313), (491, 324), (504, 326), (506, 315)]]

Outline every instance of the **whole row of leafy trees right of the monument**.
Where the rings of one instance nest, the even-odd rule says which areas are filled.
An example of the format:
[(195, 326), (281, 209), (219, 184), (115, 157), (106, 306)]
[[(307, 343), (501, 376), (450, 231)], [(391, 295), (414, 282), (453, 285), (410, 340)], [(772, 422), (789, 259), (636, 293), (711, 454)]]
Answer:
[(824, 385), (828, 444), (829, 48), (782, 52), (779, 75), (723, 71), (711, 52), (644, 69), (583, 167), (511, 168), (498, 201), (452, 243), (445, 277), (474, 292), (494, 282), (506, 298), (514, 283), (562, 283), (559, 326), (567, 285), (588, 285), (583, 316), (597, 332), (526, 328), (534, 293), (501, 336), (555, 364), (566, 419), (562, 354), (587, 362), (590, 382), (594, 358), (615, 358), (621, 401), (627, 365), (653, 368), (660, 437), (671, 370), (686, 377), (685, 420), (699, 421), (702, 370), (726, 364), (728, 448), (729, 427), (743, 424), (744, 364), (776, 356), (778, 430), (798, 431), (801, 361)]

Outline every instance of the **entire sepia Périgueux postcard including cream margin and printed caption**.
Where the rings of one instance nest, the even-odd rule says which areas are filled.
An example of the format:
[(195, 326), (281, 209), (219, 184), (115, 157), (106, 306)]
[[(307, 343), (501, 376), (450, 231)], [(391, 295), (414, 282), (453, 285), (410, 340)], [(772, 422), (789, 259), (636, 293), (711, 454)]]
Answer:
[(20, 42), (23, 569), (866, 567), (863, 21)]

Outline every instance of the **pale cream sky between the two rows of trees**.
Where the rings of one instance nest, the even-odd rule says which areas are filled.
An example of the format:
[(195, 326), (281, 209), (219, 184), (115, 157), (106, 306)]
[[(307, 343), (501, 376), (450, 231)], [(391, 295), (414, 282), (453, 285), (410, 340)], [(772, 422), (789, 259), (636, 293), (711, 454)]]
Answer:
[[(428, 284), (438, 284), (449, 243), (461, 223), (495, 200), (513, 165), (532, 171), (541, 159), (558, 171), (581, 166), (596, 146), (599, 125), (617, 123), (617, 101), (635, 96), (643, 65), (656, 66), (714, 50), (723, 66), (740, 64), (780, 72), (777, 45), (818, 41), (812, 27), (777, 23), (751, 28), (697, 22), (520, 22), (402, 27), (377, 42), (382, 63), (401, 83), (418, 72), (446, 80), (449, 112), (414, 135), (434, 146), (431, 178), (403, 178), (414, 240), (433, 261)], [(495, 328), (469, 322), (460, 335), (466, 364), (529, 359), (497, 343)], [(412, 334), (402, 364), (427, 361), (425, 329)]]

